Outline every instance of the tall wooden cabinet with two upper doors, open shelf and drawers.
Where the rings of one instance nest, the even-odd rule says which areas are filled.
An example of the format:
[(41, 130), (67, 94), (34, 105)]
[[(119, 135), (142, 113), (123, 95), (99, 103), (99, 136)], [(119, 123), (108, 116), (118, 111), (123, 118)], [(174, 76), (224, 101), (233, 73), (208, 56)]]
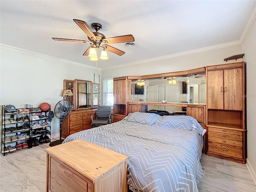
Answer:
[(245, 63), (208, 66), (206, 82), (206, 154), (245, 164)]

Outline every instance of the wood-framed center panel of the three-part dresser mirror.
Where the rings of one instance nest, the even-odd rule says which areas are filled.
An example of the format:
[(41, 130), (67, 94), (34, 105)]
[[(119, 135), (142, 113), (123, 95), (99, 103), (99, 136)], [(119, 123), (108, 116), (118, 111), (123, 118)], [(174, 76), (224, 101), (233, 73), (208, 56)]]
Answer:
[(92, 108), (92, 82), (86, 80), (75, 80), (76, 84), (76, 110)]

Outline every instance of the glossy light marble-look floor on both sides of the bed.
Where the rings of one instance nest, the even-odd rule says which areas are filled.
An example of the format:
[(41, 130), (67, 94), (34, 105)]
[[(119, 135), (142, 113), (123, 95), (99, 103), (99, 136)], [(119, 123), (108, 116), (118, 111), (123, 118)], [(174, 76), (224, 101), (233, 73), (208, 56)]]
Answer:
[[(45, 192), (49, 144), (0, 155), (1, 192)], [(256, 192), (246, 165), (202, 154), (199, 192)]]

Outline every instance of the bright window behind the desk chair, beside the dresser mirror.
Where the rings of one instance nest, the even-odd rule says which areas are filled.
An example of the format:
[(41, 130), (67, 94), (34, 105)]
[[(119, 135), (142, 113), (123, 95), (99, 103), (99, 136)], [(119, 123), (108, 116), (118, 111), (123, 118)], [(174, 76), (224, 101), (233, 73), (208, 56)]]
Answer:
[(113, 106), (113, 78), (104, 78), (103, 105)]

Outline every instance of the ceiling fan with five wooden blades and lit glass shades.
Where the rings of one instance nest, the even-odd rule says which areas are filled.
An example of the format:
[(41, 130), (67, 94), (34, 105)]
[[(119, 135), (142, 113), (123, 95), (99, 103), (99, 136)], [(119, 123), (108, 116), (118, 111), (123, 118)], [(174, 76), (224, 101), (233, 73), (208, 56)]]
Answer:
[(123, 43), (123, 42), (134, 42), (134, 37), (130, 35), (123, 35), (123, 36), (116, 36), (116, 37), (110, 37), (106, 38), (104, 34), (98, 32), (98, 30), (101, 30), (102, 26), (99, 23), (92, 23), (92, 28), (96, 30), (96, 32), (92, 32), (88, 24), (82, 20), (73, 19), (76, 24), (86, 33), (88, 36), (88, 40), (76, 40), (76, 39), (64, 39), (64, 38), (52, 38), (53, 40), (57, 41), (71, 41), (71, 42), (82, 42), (82, 43), (88, 43), (90, 44), (90, 47), (84, 52), (83, 55), (89, 56), (90, 60), (98, 60), (98, 56), (96, 51), (102, 47), (103, 50), (101, 52), (100, 59), (108, 59), (108, 56), (106, 54), (106, 50), (113, 52), (118, 55), (123, 55), (125, 52), (122, 50), (119, 50), (117, 48), (114, 48), (108, 44), (111, 43)]

